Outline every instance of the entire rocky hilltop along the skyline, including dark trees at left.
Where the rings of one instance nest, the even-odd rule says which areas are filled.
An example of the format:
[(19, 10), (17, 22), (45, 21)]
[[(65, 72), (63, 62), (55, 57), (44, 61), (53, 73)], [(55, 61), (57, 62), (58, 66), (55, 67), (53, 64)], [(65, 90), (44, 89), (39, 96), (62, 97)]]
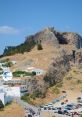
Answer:
[(39, 43), (59, 48), (61, 45), (71, 45), (74, 48), (82, 47), (82, 37), (77, 33), (58, 32), (54, 28), (46, 28), (34, 35), (28, 36), (24, 43), (15, 47), (6, 47), (3, 56), (29, 52)]

